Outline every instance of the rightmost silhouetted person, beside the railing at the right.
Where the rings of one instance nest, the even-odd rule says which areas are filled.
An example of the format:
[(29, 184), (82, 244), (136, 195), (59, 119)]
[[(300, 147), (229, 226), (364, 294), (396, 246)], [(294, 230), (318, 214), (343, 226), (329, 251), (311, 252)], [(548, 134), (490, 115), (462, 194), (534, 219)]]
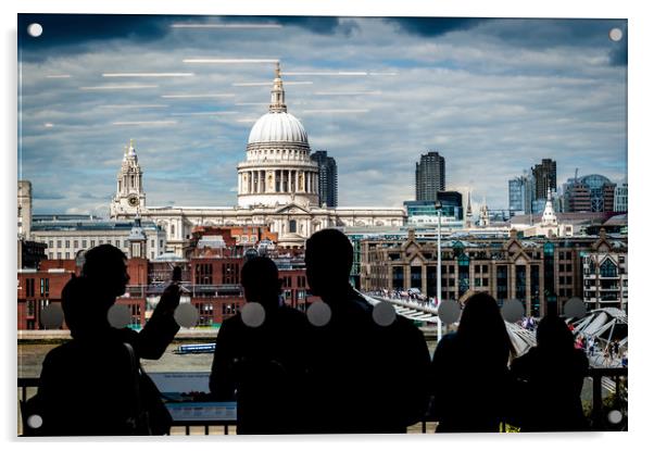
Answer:
[(537, 346), (511, 365), (530, 400), (520, 412), (520, 430), (588, 430), (580, 399), (588, 358), (575, 348), (575, 337), (558, 316), (542, 318), (536, 339)]

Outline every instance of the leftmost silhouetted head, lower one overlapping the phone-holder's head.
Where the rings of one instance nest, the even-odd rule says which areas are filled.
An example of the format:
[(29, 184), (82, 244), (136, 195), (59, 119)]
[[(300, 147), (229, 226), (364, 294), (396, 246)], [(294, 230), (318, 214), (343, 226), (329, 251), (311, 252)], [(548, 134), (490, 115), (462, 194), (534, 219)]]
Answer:
[(84, 338), (110, 327), (106, 313), (113, 304), (105, 297), (95, 293), (95, 286), (87, 277), (74, 277), (61, 292), (61, 306), (73, 338)]

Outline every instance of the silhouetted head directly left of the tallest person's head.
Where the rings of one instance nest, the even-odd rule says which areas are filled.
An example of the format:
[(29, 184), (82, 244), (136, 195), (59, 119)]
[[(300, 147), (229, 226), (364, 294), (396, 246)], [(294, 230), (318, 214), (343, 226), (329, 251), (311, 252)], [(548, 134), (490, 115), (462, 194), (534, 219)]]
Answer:
[(241, 270), (241, 284), (248, 302), (259, 302), (264, 308), (279, 305), (281, 280), (277, 265), (267, 256), (253, 256)]

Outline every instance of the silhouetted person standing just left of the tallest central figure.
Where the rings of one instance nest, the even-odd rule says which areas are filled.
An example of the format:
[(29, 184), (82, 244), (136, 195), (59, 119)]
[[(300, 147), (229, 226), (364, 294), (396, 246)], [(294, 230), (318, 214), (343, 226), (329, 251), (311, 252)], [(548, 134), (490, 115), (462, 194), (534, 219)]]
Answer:
[(306, 318), (280, 301), (281, 280), (271, 259), (247, 261), (241, 284), (248, 303), (263, 306), (263, 323), (243, 322), (241, 312), (223, 323), (210, 378), (212, 398), (237, 401), (238, 434), (302, 433)]

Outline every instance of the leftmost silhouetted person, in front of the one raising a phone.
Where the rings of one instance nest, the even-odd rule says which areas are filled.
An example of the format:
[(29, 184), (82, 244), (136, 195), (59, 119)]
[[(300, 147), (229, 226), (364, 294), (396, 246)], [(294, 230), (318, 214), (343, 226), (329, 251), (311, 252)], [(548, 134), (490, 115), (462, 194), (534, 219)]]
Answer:
[[(136, 378), (121, 340), (86, 324), (105, 308), (93, 304), (93, 287), (85, 277), (70, 280), (62, 306), (73, 339), (48, 352), (38, 393), (29, 400), (41, 416), (38, 435), (134, 435), (139, 416)], [(142, 430), (141, 430), (142, 431)]]

